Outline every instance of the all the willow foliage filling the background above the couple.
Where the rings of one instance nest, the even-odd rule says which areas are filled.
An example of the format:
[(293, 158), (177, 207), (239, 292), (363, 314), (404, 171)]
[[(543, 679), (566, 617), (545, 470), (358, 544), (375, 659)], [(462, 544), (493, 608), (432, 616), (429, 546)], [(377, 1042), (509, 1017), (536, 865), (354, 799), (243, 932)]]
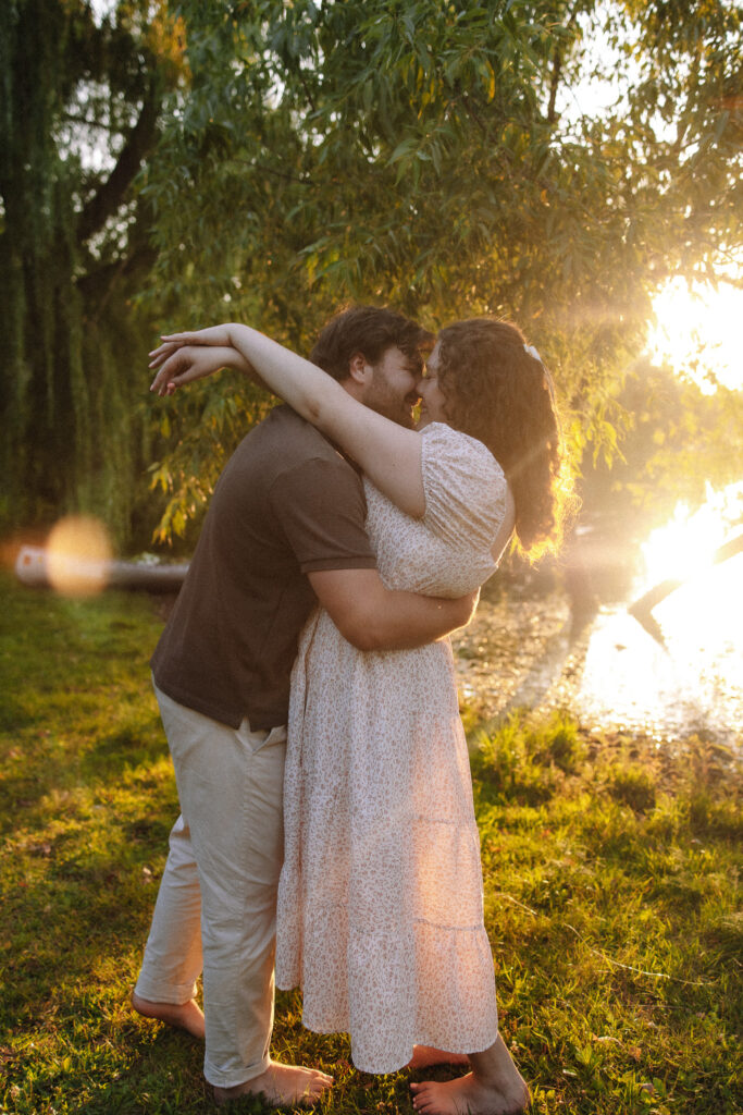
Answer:
[[(118, 485), (124, 524), (149, 430), (162, 533), (185, 530), (265, 400), (224, 380), (133, 409), (145, 333), (237, 318), (306, 351), (349, 299), (518, 321), (576, 458), (612, 458), (653, 292), (730, 272), (740, 248), (729, 3), (140, 0), (98, 27), (82, 2), (14, 0), (2, 19), (16, 521), (113, 508)], [(80, 100), (114, 169), (76, 154)]]

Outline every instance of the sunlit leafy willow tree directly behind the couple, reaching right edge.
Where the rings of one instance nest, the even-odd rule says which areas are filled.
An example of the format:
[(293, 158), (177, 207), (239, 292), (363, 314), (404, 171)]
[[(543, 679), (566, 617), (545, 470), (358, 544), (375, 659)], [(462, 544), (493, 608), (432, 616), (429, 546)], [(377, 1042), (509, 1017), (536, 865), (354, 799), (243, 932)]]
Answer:
[[(610, 454), (614, 384), (642, 348), (654, 290), (714, 271), (740, 243), (740, 9), (180, 10), (193, 85), (145, 186), (173, 323), (241, 316), (306, 348), (345, 299), (430, 326), (514, 318), (558, 368), (576, 448)], [(615, 104), (593, 110), (586, 81), (617, 75)], [(184, 434), (163, 463), (172, 511), (198, 500), (189, 477), (213, 474), (225, 420), (211, 442)]]

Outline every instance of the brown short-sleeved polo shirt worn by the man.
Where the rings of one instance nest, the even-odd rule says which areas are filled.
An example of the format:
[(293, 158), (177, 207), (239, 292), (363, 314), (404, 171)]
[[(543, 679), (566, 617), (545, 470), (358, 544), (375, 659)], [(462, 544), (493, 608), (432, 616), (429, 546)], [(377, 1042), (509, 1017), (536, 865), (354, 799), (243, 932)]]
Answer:
[(155, 682), (223, 724), (285, 724), (299, 633), (316, 603), (305, 573), (374, 569), (360, 476), (281, 406), (219, 477), (188, 575), (151, 659)]

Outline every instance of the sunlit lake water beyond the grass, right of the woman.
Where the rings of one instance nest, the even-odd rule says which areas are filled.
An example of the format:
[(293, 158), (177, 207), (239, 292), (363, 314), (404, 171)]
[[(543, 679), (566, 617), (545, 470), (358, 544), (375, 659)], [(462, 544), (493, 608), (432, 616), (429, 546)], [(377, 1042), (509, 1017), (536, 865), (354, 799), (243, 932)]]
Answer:
[[(635, 585), (628, 602), (637, 594)], [(462, 704), (485, 719), (518, 706), (565, 707), (598, 730), (741, 745), (743, 554), (671, 593), (653, 618), (663, 642), (620, 603), (600, 607), (576, 638), (559, 590), (486, 592), (453, 640)]]

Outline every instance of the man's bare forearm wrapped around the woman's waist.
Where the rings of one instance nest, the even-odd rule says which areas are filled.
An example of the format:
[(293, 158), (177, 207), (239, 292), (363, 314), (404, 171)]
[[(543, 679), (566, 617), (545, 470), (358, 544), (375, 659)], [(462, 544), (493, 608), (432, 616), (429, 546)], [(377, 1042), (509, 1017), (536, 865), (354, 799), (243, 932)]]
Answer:
[(317, 600), (359, 650), (404, 650), (442, 639), (471, 620), (479, 592), (457, 600), (387, 589), (375, 569), (307, 573)]

